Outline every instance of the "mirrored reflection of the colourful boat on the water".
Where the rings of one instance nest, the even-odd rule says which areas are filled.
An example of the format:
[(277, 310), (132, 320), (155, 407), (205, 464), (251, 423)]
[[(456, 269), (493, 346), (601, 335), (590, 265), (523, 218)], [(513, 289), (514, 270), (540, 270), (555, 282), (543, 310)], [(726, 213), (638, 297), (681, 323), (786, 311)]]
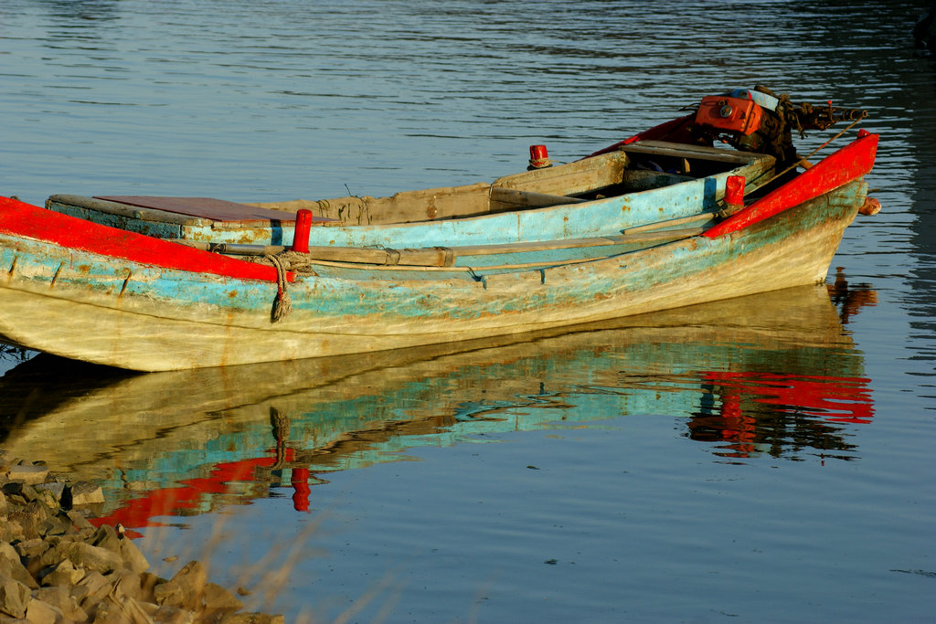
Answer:
[[(843, 279), (829, 291), (842, 314), (874, 300)], [(132, 529), (285, 488), (305, 511), (329, 472), (407, 448), (626, 414), (684, 418), (719, 461), (849, 459), (873, 415), (863, 370), (826, 288), (802, 287), (563, 334), (223, 369), (38, 356), (0, 378), (0, 436), (102, 484), (105, 519)]]

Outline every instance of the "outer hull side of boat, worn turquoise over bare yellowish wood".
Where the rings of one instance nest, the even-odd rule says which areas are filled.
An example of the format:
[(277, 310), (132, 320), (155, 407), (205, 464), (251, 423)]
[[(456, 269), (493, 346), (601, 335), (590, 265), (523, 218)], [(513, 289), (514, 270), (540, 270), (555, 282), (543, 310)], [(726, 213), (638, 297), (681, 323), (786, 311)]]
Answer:
[[(7, 232), (0, 334), (125, 369), (181, 370), (588, 323), (821, 282), (866, 192), (853, 181), (724, 236), (561, 266), (499, 272), (321, 262), (288, 284), (293, 309), (278, 323), (268, 275), (158, 266)], [(205, 254), (206, 267), (213, 262), (212, 254), (189, 252)]]

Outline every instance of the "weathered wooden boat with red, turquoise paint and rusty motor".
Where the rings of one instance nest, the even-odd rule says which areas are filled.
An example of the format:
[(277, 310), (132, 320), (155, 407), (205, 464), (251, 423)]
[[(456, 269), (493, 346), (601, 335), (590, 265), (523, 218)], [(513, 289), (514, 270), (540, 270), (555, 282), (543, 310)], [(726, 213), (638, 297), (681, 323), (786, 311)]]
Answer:
[(821, 282), (844, 228), (879, 207), (863, 181), (878, 137), (859, 131), (797, 173), (808, 164), (783, 140), (791, 120), (823, 128), (863, 113), (769, 97), (707, 97), (573, 163), (541, 167), (534, 146), (519, 174), (381, 199), (51, 196), (42, 209), (3, 198), (0, 335), (181, 370), (508, 335)]

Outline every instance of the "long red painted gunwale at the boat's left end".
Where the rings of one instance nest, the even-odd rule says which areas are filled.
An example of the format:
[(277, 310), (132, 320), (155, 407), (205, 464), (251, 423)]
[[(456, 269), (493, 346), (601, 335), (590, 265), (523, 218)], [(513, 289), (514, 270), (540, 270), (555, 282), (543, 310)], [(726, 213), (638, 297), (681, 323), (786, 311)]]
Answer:
[(268, 265), (95, 224), (9, 197), (0, 197), (0, 233), (153, 267), (243, 280), (276, 281), (276, 269)]

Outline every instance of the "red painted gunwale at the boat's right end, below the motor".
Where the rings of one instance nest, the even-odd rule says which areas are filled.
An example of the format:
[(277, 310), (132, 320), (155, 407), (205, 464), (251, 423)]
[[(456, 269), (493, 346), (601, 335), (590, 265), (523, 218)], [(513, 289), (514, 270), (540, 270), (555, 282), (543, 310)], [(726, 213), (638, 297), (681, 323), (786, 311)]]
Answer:
[(783, 184), (722, 223), (709, 227), (702, 235), (713, 239), (737, 232), (868, 174), (874, 166), (877, 144), (878, 135), (859, 131), (858, 138), (826, 156), (794, 181)]

